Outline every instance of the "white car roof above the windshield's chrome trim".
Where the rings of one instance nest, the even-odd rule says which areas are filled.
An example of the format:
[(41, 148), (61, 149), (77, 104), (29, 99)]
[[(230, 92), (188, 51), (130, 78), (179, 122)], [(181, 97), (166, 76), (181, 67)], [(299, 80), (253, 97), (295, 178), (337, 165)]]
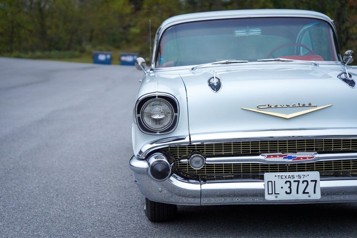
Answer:
[(209, 18), (230, 18), (230, 17), (255, 17), (255, 16), (293, 16), (301, 15), (306, 17), (318, 17), (332, 22), (330, 17), (316, 11), (307, 10), (293, 10), (293, 9), (254, 9), (254, 10), (229, 10), (229, 11), (209, 11), (209, 12), (197, 12), (189, 13), (178, 16), (170, 17), (162, 22), (161, 27), (166, 25), (175, 24), (175, 22), (181, 21), (195, 21), (204, 20)]

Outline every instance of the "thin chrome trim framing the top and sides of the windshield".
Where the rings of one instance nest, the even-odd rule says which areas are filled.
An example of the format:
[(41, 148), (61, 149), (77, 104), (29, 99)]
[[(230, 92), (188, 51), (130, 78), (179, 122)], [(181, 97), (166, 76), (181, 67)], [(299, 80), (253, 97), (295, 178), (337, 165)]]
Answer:
[[(304, 14), (297, 14), (297, 15), (290, 15), (290, 14), (287, 14), (287, 15), (284, 15), (284, 14), (270, 15), (270, 14), (265, 14), (265, 15), (239, 15), (239, 16), (202, 17), (202, 18), (186, 19), (186, 20), (172, 22), (171, 24), (167, 24), (164, 27), (160, 26), (160, 31), (158, 32), (159, 35), (157, 37), (156, 42), (154, 42), (154, 49), (153, 49), (154, 54), (152, 55), (151, 69), (153, 71), (156, 69), (156, 67), (155, 67), (156, 56), (157, 56), (156, 49), (157, 49), (157, 47), (159, 47), (161, 36), (162, 36), (162, 34), (164, 34), (165, 30), (167, 28), (171, 27), (171, 26), (182, 24), (182, 23), (187, 23), (187, 22), (195, 22), (195, 21), (208, 21), (208, 20), (221, 20), (221, 19), (239, 19), (239, 18), (259, 18), (259, 17), (302, 17), (302, 18), (312, 18), (312, 19), (318, 19), (318, 20), (325, 21), (331, 26), (331, 28), (333, 30), (333, 33), (334, 33), (333, 38), (334, 38), (334, 41), (335, 41), (335, 48), (336, 48), (336, 51), (337, 51), (337, 55), (341, 55), (340, 46), (339, 46), (338, 38), (337, 38), (336, 27), (335, 27), (335, 25), (333, 24), (332, 21), (329, 21), (325, 17), (304, 15)], [(190, 66), (187, 66), (187, 68), (189, 68), (189, 67)], [(176, 67), (170, 67), (170, 68), (171, 69), (175, 69)], [(160, 69), (160, 68), (158, 68), (158, 69)]]

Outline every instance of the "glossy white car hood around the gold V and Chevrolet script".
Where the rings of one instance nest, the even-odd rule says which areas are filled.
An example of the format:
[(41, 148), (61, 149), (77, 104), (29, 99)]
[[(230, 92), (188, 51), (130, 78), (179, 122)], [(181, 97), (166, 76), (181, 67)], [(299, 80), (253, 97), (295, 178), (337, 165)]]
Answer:
[[(258, 66), (216, 66), (180, 74), (187, 91), (191, 135), (356, 127), (357, 88), (350, 88), (337, 79), (344, 70), (341, 65)], [(353, 70), (350, 72), (355, 76)], [(207, 84), (213, 71), (222, 81), (217, 93)], [(305, 107), (298, 107), (299, 103)], [(262, 108), (268, 104), (272, 107)], [(293, 104), (297, 107), (292, 107)], [(257, 108), (258, 105), (261, 108)], [(290, 119), (242, 109), (289, 115), (322, 106), (327, 107)]]

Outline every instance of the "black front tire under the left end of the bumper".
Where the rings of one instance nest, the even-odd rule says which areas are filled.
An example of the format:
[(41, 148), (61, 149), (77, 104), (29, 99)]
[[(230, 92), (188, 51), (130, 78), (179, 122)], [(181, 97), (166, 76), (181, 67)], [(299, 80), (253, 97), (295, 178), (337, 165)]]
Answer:
[(152, 222), (167, 222), (176, 218), (176, 204), (154, 202), (145, 198), (145, 215)]

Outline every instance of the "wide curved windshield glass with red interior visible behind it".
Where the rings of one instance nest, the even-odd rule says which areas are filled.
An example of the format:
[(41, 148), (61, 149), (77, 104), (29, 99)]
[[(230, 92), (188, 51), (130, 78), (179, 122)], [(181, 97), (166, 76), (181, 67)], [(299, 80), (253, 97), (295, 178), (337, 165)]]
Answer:
[(331, 26), (325, 21), (297, 17), (182, 23), (169, 27), (162, 35), (155, 65), (162, 68), (274, 58), (338, 61)]

